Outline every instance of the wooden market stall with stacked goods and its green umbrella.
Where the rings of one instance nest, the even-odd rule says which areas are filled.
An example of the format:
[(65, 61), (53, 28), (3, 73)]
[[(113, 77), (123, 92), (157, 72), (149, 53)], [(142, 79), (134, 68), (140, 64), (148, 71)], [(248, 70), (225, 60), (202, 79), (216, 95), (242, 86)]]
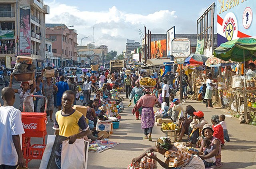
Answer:
[[(256, 59), (256, 39), (254, 38), (239, 38), (236, 40), (231, 40), (226, 43), (221, 44), (218, 48), (214, 50), (214, 56), (220, 58), (221, 60), (228, 61), (232, 60), (234, 62), (243, 62), (245, 63), (248, 60)], [(243, 69), (245, 71), (245, 68)], [(248, 84), (246, 84), (246, 78), (244, 76), (238, 77), (240, 80), (232, 80), (232, 89), (229, 92), (230, 98), (234, 98), (236, 103), (236, 112), (238, 111), (238, 107), (240, 107), (240, 112), (242, 113), (241, 117), (244, 117), (243, 122), (250, 122), (250, 109), (248, 109), (247, 99), (251, 93), (255, 93), (254, 90)], [(242, 80), (241, 80), (242, 79)], [(242, 82), (243, 81), (243, 82)], [(233, 82), (236, 85), (233, 85)], [(238, 85), (240, 84), (240, 85)], [(242, 86), (244, 88), (242, 88)], [(233, 96), (233, 97), (232, 97)], [(238, 101), (239, 100), (239, 101)], [(232, 108), (231, 102), (231, 108)], [(242, 106), (243, 103), (243, 106)], [(250, 105), (250, 104), (249, 104)], [(234, 104), (233, 104), (234, 106)]]

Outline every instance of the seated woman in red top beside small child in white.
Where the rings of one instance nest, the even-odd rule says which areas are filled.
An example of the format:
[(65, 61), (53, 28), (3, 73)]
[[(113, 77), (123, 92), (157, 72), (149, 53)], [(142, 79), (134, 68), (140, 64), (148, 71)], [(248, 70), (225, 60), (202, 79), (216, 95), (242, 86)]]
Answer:
[(220, 125), (220, 119), (218, 115), (212, 115), (212, 128), (213, 128), (213, 136), (221, 141), (221, 147), (224, 145), (224, 133), (223, 128)]

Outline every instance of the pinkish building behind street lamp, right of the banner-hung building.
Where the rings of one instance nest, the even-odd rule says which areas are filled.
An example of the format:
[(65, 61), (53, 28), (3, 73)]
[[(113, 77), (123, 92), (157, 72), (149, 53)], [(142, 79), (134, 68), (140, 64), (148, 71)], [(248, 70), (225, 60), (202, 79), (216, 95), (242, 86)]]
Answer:
[(61, 67), (61, 59), (64, 66), (73, 66), (78, 62), (77, 33), (69, 29), (65, 24), (46, 24), (46, 38), (53, 40), (52, 53), (56, 61), (56, 67)]

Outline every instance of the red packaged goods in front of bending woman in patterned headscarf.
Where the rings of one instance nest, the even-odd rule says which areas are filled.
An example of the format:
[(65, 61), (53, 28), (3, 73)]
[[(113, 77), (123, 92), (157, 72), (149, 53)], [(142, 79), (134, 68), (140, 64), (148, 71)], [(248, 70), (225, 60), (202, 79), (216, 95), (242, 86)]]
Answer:
[[(154, 155), (154, 153), (147, 153), (147, 156)], [(157, 162), (155, 159), (149, 157), (143, 157), (140, 163), (135, 163), (128, 165), (127, 169), (157, 169)]]

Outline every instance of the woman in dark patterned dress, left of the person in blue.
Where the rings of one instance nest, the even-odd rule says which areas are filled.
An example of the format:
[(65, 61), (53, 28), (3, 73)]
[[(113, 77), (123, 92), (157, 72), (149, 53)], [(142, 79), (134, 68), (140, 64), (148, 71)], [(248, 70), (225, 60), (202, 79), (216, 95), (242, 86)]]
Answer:
[(58, 91), (58, 87), (51, 82), (52, 78), (46, 78), (46, 84), (44, 85), (44, 95), (47, 97), (47, 115), (50, 115), (50, 121), (52, 120), (52, 113), (54, 108), (54, 91)]

